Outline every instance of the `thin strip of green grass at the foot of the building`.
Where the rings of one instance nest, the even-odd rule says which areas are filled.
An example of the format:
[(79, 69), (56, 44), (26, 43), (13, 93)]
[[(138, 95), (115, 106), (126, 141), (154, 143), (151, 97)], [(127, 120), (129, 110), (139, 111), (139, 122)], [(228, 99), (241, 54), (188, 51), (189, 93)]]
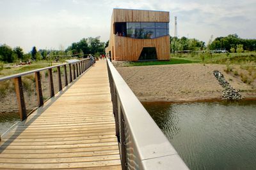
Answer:
[(127, 66), (152, 66), (152, 65), (166, 65), (166, 64), (186, 64), (186, 63), (194, 63), (194, 62), (198, 62), (198, 61), (172, 58), (170, 60), (129, 62), (129, 64), (127, 64)]

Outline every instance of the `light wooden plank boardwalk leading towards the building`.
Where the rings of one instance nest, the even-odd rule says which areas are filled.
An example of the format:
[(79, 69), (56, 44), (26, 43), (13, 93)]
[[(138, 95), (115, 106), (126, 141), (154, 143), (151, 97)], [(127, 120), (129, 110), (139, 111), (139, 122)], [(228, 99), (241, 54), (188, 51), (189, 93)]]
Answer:
[(106, 60), (0, 141), (0, 169), (121, 169)]

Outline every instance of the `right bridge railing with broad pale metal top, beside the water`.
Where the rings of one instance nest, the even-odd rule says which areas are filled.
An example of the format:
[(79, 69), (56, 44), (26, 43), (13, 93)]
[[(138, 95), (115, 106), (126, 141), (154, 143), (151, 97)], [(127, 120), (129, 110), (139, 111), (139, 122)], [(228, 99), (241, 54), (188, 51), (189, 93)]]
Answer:
[(122, 76), (107, 62), (122, 169), (188, 169)]

